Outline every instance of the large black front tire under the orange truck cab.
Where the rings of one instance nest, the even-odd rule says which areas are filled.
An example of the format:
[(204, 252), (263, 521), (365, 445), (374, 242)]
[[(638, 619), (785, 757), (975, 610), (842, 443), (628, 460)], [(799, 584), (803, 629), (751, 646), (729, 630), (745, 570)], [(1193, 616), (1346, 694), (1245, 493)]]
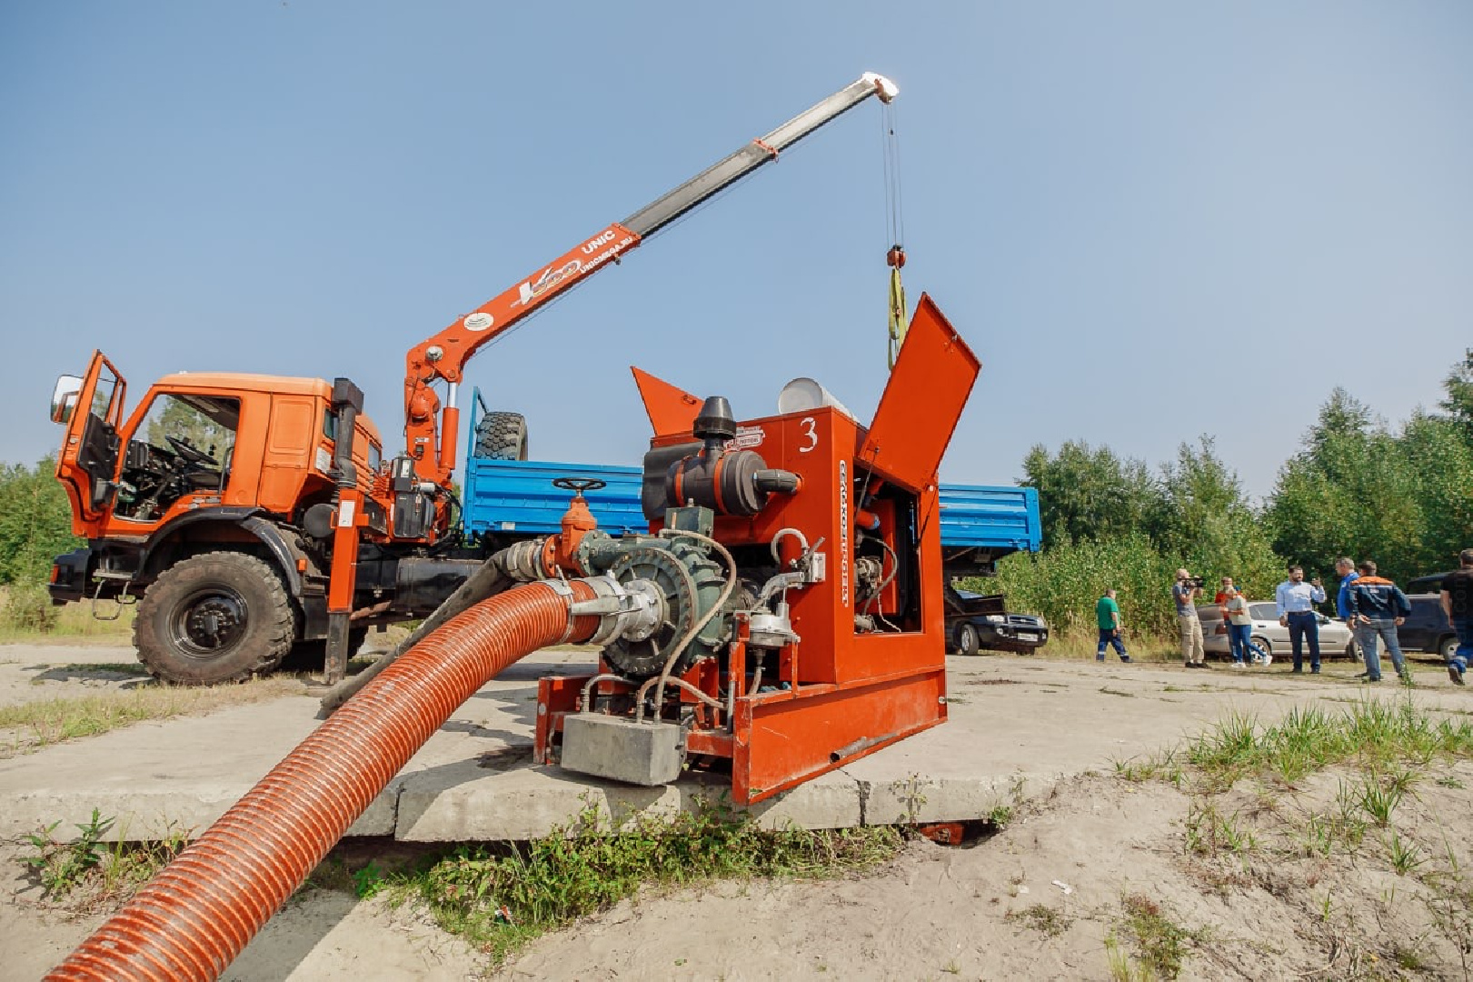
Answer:
[(246, 681), (281, 664), (296, 613), (277, 572), (247, 553), (205, 553), (169, 566), (138, 602), (133, 643), (161, 681)]

